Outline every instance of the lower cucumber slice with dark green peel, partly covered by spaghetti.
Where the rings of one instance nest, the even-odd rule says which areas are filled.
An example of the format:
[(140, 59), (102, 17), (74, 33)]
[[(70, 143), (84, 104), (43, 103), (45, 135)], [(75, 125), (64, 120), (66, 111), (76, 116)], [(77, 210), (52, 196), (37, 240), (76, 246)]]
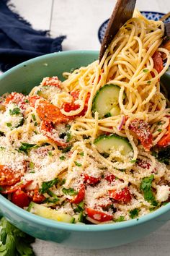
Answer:
[(133, 153), (132, 145), (129, 140), (119, 135), (100, 135), (94, 140), (94, 145), (97, 146), (99, 153), (111, 153), (112, 149), (119, 151), (122, 155), (131, 156)]

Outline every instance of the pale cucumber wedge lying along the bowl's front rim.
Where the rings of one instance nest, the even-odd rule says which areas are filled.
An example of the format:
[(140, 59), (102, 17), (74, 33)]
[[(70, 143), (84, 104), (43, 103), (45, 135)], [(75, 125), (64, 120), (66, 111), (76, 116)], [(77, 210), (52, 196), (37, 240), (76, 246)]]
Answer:
[(54, 221), (62, 221), (66, 223), (74, 223), (75, 219), (66, 213), (58, 213), (58, 210), (53, 210), (45, 207), (44, 205), (38, 205), (35, 202), (30, 202), (27, 211), (34, 213), (44, 218), (50, 218)]

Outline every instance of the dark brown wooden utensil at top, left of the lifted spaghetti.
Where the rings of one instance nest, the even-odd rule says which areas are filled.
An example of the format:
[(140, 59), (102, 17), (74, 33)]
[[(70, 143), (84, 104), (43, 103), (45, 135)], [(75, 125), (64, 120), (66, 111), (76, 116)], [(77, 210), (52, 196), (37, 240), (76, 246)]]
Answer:
[(133, 17), (135, 2), (136, 0), (117, 0), (112, 16), (109, 19), (104, 39), (102, 40), (102, 46), (99, 52), (99, 61), (101, 61), (104, 52), (112, 42), (112, 39), (115, 37), (120, 27), (122, 27), (127, 20)]

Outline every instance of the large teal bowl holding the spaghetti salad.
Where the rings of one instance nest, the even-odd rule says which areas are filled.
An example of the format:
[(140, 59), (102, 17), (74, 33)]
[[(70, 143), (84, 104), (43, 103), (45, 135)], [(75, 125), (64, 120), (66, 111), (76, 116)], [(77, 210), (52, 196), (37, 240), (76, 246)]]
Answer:
[[(0, 93), (27, 91), (43, 77), (86, 66), (98, 58), (97, 51), (65, 51), (48, 54), (19, 64), (0, 76)], [(134, 242), (169, 221), (170, 203), (146, 216), (130, 221), (84, 225), (52, 221), (22, 210), (0, 195), (1, 215), (27, 234), (68, 247), (99, 249)]]

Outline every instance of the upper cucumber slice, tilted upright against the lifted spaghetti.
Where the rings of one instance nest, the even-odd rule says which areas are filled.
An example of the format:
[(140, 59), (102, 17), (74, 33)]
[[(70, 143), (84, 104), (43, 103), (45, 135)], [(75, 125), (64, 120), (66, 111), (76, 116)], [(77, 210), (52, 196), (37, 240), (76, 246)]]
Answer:
[[(97, 111), (99, 113), (99, 118), (101, 119), (103, 116), (108, 114), (113, 107), (117, 106), (119, 94), (119, 86), (112, 84), (104, 85), (94, 96), (92, 113), (94, 114)], [(125, 93), (123, 98), (125, 98)]]

